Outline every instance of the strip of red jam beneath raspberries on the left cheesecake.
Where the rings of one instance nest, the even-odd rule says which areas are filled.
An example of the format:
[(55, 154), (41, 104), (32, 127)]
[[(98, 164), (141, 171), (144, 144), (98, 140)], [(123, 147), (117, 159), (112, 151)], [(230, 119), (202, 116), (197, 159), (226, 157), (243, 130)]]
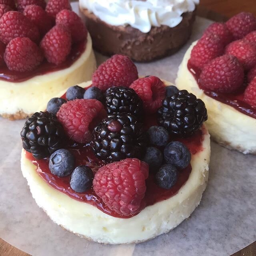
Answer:
[(66, 60), (62, 62), (62, 64), (55, 65), (47, 62), (47, 60), (44, 60), (44, 62), (42, 62), (42, 64), (40, 64), (38, 68), (32, 71), (27, 71), (27, 72), (12, 71), (12, 70), (9, 70), (6, 65), (4, 65), (0, 69), (0, 80), (5, 80), (8, 82), (23, 82), (30, 78), (33, 78), (34, 76), (40, 76), (40, 75), (48, 74), (58, 70), (62, 70), (64, 68), (69, 68), (81, 56), (85, 48), (86, 48), (85, 41), (74, 44), (72, 46), (70, 54), (68, 55)]

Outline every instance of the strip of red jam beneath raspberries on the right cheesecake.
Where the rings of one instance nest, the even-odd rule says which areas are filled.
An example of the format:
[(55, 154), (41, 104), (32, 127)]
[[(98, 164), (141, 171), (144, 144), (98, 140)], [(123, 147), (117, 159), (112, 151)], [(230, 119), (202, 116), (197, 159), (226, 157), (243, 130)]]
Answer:
[[(190, 60), (188, 61), (188, 70), (196, 79), (196, 82), (198, 83), (199, 88), (203, 89), (200, 86), (200, 79), (199, 79), (201, 71), (195, 66), (193, 66)], [(244, 91), (238, 92), (236, 94), (224, 94), (219, 92), (212, 92), (210, 90), (204, 90), (204, 94), (213, 98), (214, 100), (218, 100), (219, 102), (232, 106), (233, 108), (235, 108), (236, 110), (238, 110), (239, 112), (247, 116), (256, 118), (256, 110), (252, 108), (249, 104), (244, 102)]]

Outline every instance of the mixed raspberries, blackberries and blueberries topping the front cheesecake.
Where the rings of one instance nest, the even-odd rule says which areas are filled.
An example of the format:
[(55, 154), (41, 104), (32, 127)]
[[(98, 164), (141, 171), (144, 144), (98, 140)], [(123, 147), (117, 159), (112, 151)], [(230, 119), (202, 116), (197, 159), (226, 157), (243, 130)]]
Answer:
[[(47, 112), (28, 119), (21, 132), (23, 147), (37, 159), (47, 157), (52, 174), (70, 175), (74, 191), (85, 192), (93, 184), (102, 202), (124, 215), (144, 207), (149, 172), (160, 188), (174, 186), (191, 159), (175, 137), (191, 136), (207, 119), (201, 100), (166, 87), (155, 76), (138, 78), (134, 63), (122, 55), (100, 65), (92, 86), (72, 86), (65, 96), (52, 98)], [(154, 114), (160, 126), (145, 129), (146, 118)], [(63, 134), (71, 144), (90, 147), (105, 165), (95, 175), (88, 166), (76, 167), (72, 151), (61, 144)]]

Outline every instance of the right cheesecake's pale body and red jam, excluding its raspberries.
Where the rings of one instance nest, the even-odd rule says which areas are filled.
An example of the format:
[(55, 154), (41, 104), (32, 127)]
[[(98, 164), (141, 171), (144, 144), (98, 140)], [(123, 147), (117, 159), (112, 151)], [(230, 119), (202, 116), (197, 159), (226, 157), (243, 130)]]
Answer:
[(196, 42), (188, 48), (178, 70), (176, 86), (201, 98), (208, 111), (207, 128), (218, 144), (244, 154), (256, 154), (256, 110), (232, 96), (206, 94), (198, 85), (198, 77), (189, 66)]

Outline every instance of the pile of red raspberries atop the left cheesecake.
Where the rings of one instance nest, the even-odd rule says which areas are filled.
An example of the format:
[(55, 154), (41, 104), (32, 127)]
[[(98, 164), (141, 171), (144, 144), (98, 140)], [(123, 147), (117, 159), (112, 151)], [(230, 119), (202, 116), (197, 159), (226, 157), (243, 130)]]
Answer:
[(73, 44), (87, 38), (81, 18), (69, 0), (2, 0), (0, 2), (0, 66), (26, 72), (45, 59), (59, 65)]

